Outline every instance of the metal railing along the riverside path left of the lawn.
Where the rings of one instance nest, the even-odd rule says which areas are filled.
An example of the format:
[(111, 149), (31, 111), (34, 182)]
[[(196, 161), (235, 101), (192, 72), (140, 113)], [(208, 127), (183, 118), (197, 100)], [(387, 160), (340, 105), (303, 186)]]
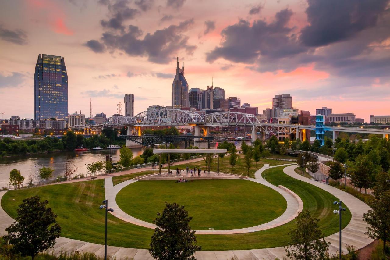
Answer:
[[(204, 157), (204, 155), (191, 156), (188, 160), (196, 159), (196, 158), (202, 158), (202, 157)], [(179, 158), (179, 159), (175, 159), (175, 160), (170, 160), (170, 162), (171, 163), (172, 162), (181, 162), (181, 161), (185, 161), (185, 160), (186, 159), (184, 159), (184, 158)], [(165, 164), (166, 163), (167, 162), (165, 162)], [(132, 166), (129, 166), (129, 167), (122, 167), (122, 168), (119, 168), (119, 169), (97, 171), (97, 172), (94, 172), (94, 173), (83, 173), (83, 174), (71, 175), (71, 176), (59, 176), (57, 178), (48, 179), (48, 180), (39, 180), (39, 181), (36, 181), (36, 182), (21, 183), (20, 185), (7, 184), (6, 187), (2, 187), (2, 188), (0, 188), (0, 190), (1, 191), (7, 191), (7, 190), (11, 190), (11, 189), (22, 189), (22, 188), (37, 187), (37, 186), (46, 185), (46, 184), (50, 184), (50, 183), (66, 182), (66, 181), (69, 181), (69, 180), (76, 180), (76, 179), (81, 179), (81, 178), (90, 178), (90, 177), (99, 176), (99, 175), (106, 175), (106, 174), (110, 174), (110, 173), (117, 173), (117, 172), (121, 172), (121, 171), (128, 171), (128, 170), (131, 170), (131, 169), (147, 168), (147, 167), (152, 167), (152, 165), (155, 165), (157, 167), (158, 166), (158, 162), (148, 162), (148, 163), (145, 163), (145, 164), (135, 164), (135, 165), (132, 165)]]

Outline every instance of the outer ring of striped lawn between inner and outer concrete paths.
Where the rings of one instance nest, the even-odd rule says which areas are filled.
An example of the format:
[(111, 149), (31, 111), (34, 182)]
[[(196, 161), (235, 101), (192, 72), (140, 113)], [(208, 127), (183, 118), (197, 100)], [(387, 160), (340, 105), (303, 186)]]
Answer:
[[(314, 217), (321, 219), (319, 226), (324, 235), (339, 230), (339, 218), (332, 213), (337, 200), (332, 194), (309, 183), (301, 182), (283, 173), (284, 166), (263, 172), (266, 179), (275, 185), (284, 185), (301, 197), (304, 208)], [(188, 183), (177, 183), (186, 185)], [(104, 243), (104, 212), (99, 210), (105, 195), (103, 180), (65, 183), (8, 191), (2, 198), (1, 205), (12, 217), (22, 199), (38, 194), (49, 200), (49, 207), (58, 214), (62, 226), (62, 236), (93, 243)], [(183, 194), (185, 196), (185, 194)], [(15, 199), (15, 200), (13, 200)], [(108, 245), (129, 248), (149, 248), (153, 230), (126, 223), (108, 214)], [(245, 215), (240, 216), (245, 219)], [(343, 226), (351, 219), (349, 210), (344, 213)], [(234, 235), (197, 235), (202, 250), (239, 250), (283, 246), (288, 241), (290, 228), (294, 221), (277, 228), (253, 233)]]

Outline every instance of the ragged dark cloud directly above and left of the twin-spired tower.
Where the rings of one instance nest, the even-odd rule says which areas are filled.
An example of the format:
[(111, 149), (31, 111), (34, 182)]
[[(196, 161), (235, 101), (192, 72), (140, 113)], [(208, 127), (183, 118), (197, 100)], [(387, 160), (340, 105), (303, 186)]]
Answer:
[[(189, 45), (188, 37), (182, 34), (192, 24), (193, 19), (186, 20), (179, 25), (156, 30), (153, 34), (147, 33), (144, 39), (140, 39), (143, 35), (140, 28), (129, 25), (127, 30), (120, 33), (103, 33), (100, 45), (105, 45), (110, 50), (122, 50), (130, 56), (147, 56), (154, 63), (168, 63), (178, 50), (185, 49), (189, 54), (195, 50), (196, 46)], [(100, 46), (96, 44), (96, 40), (91, 41)]]

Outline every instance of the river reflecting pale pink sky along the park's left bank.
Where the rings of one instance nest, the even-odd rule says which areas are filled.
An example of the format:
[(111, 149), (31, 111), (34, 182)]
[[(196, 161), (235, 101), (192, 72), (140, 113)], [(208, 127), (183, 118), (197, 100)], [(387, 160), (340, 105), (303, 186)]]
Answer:
[[(235, 142), (239, 148), (240, 142)], [(248, 142), (250, 144), (250, 142)], [(180, 147), (184, 148), (184, 144), (180, 144)], [(212, 142), (210, 148), (216, 148), (218, 142)], [(133, 148), (134, 157), (142, 154), (142, 148)], [(38, 172), (43, 166), (51, 167), (54, 169), (53, 177), (64, 175), (64, 164), (71, 162), (77, 167), (75, 174), (85, 174), (87, 172), (86, 164), (96, 161), (104, 161), (106, 155), (110, 154), (110, 150), (97, 150), (97, 151), (62, 151), (54, 153), (39, 153), (35, 155), (16, 156), (0, 158), (0, 188), (6, 187), (9, 183), (9, 172), (12, 169), (18, 169), (25, 177), (25, 182), (28, 182), (28, 178), (33, 176), (35, 165), (35, 181), (39, 180)], [(119, 149), (112, 150), (113, 162), (119, 161)]]

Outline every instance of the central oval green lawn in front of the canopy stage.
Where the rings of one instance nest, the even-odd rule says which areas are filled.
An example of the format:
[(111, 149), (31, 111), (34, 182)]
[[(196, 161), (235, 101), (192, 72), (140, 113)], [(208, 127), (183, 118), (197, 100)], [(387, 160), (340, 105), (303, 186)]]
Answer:
[(122, 210), (147, 222), (162, 212), (165, 201), (184, 205), (195, 230), (256, 226), (279, 217), (287, 208), (280, 193), (248, 180), (144, 181), (126, 186), (117, 195)]

